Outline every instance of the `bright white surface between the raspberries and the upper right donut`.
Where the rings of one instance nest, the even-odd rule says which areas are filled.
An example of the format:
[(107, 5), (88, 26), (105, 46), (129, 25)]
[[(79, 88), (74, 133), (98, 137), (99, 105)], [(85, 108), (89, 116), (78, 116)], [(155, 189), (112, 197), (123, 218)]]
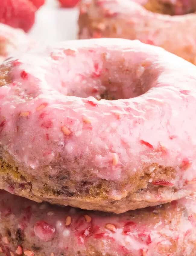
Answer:
[(57, 0), (46, 0), (29, 35), (45, 43), (77, 39), (77, 18), (77, 8), (60, 8)]

